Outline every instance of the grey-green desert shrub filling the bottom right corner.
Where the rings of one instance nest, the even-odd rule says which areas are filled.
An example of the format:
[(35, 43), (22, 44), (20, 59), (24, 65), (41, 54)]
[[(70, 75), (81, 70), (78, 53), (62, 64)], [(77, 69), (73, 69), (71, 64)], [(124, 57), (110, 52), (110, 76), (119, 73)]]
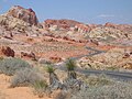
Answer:
[(81, 89), (70, 95), (70, 99), (132, 99), (132, 85), (117, 81), (113, 85)]

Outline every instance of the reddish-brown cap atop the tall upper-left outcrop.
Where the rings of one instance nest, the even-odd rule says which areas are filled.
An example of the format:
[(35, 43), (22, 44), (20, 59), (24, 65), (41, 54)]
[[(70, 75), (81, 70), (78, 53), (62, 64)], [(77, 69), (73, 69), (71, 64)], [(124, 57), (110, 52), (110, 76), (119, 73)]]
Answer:
[(32, 9), (24, 9), (20, 6), (12, 7), (8, 11), (7, 15), (21, 19), (21, 20), (30, 23), (31, 25), (36, 25), (38, 23), (36, 14)]

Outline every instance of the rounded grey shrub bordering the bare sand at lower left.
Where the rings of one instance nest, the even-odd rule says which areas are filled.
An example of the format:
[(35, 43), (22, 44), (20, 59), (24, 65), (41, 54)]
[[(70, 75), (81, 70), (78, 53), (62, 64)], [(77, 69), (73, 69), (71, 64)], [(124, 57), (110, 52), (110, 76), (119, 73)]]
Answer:
[(11, 87), (18, 86), (31, 86), (36, 81), (43, 80), (43, 74), (38, 73), (36, 69), (24, 68), (18, 70), (16, 74), (11, 79)]

